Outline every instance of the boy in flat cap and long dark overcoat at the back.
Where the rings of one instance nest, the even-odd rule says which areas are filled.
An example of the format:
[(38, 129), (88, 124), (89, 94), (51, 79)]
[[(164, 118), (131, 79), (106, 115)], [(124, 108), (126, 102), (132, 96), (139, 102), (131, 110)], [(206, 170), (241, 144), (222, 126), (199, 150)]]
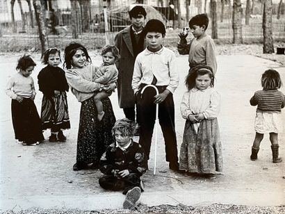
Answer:
[(122, 56), (116, 64), (119, 71), (117, 79), (119, 106), (123, 109), (125, 117), (136, 121), (138, 124), (139, 120), (138, 116), (136, 117), (135, 97), (133, 96), (131, 81), (136, 56), (145, 49), (145, 40), (141, 32), (146, 16), (145, 8), (142, 6), (133, 7), (129, 11), (131, 25), (115, 36), (115, 46), (119, 49)]

